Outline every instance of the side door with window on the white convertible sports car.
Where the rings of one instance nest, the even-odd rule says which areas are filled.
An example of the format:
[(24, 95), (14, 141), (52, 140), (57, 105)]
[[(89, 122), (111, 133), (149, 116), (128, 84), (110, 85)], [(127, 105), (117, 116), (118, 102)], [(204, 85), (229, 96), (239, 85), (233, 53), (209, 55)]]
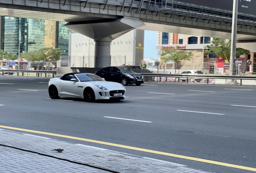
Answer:
[(60, 89), (66, 95), (78, 95), (78, 82), (70, 81), (71, 78), (76, 78), (76, 76), (66, 76), (66, 78), (60, 82)]

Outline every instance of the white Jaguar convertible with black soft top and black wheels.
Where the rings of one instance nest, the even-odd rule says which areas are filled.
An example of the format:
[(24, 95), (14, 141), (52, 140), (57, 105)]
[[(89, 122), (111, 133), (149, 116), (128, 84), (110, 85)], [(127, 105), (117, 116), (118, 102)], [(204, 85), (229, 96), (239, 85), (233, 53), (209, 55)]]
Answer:
[(74, 97), (94, 100), (122, 100), (125, 98), (125, 87), (117, 82), (107, 82), (91, 73), (73, 72), (61, 78), (51, 78), (48, 84), (51, 99)]

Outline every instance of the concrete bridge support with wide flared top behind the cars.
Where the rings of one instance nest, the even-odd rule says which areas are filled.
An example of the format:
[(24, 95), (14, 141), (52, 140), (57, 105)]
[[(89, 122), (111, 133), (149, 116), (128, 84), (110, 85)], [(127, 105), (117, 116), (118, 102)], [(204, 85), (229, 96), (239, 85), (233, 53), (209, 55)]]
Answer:
[(110, 66), (110, 43), (127, 32), (144, 26), (140, 20), (126, 18), (68, 22), (64, 26), (93, 38), (95, 45), (95, 67)]

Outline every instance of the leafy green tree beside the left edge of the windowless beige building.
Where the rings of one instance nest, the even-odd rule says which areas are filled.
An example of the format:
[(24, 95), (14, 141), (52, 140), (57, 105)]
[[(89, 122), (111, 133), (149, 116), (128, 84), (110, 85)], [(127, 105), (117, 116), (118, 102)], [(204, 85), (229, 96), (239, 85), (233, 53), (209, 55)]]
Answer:
[[(39, 49), (35, 57), (37, 58), (37, 60), (50, 62), (50, 61), (60, 60), (61, 54), (62, 54), (62, 50), (60, 50), (59, 48), (45, 47), (45, 48)], [(49, 65), (47, 66), (47, 70), (48, 69), (49, 69)]]

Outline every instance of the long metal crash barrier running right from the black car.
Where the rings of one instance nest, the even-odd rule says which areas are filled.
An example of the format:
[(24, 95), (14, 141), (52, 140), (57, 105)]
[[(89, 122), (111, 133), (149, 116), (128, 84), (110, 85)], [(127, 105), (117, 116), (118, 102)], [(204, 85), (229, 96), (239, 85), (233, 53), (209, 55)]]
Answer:
[[(186, 82), (188, 83), (190, 78), (197, 78), (197, 79), (205, 79), (207, 81), (207, 84), (209, 84), (209, 79), (232, 79), (232, 80), (240, 80), (240, 85), (242, 85), (242, 80), (256, 80), (256, 76), (235, 76), (235, 75), (208, 75), (208, 74), (159, 74), (159, 73), (140, 73), (144, 76), (145, 80), (147, 80), (147, 77), (153, 77), (159, 78), (159, 81), (161, 81), (161, 78), (165, 78), (165, 81), (167, 81), (167, 78), (186, 78)], [(174, 82), (177, 82), (174, 80)]]

